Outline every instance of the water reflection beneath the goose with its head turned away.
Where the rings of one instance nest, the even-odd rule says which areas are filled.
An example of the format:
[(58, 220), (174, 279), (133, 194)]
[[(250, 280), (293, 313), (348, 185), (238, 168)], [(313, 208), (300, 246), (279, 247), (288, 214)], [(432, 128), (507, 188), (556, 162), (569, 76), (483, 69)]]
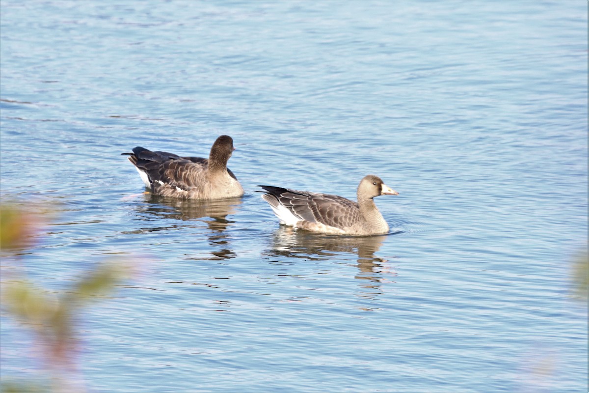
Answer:
[[(149, 226), (135, 232), (157, 232), (160, 230), (175, 229), (186, 226), (180, 221), (199, 220), (207, 224), (206, 231), (203, 231), (211, 246), (209, 260), (226, 260), (236, 257), (236, 253), (230, 246), (227, 236), (227, 228), (233, 225), (233, 220), (227, 219), (230, 214), (236, 214), (243, 201), (241, 198), (222, 200), (177, 200), (155, 196), (151, 193), (144, 194), (145, 204), (141, 204), (141, 219), (153, 223), (154, 219), (162, 219), (166, 223), (163, 226)], [(165, 219), (165, 220), (164, 220)], [(206, 258), (199, 257), (199, 260)]]

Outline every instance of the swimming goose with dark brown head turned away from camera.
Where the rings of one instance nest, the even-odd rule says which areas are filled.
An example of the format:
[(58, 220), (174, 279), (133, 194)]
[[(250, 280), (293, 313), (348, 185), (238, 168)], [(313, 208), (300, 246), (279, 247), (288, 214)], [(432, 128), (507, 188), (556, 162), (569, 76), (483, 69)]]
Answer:
[(233, 139), (221, 135), (209, 158), (180, 157), (166, 151), (135, 147), (130, 156), (145, 186), (155, 195), (181, 199), (223, 199), (240, 197), (243, 187), (227, 168), (233, 153)]

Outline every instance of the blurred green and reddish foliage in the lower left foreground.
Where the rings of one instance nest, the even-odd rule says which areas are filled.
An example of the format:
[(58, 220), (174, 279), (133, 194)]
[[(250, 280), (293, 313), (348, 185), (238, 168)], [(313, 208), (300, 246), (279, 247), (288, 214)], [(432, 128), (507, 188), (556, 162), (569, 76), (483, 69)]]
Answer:
[[(40, 229), (41, 220), (33, 213), (15, 206), (0, 206), (0, 248), (3, 252), (31, 247)], [(16, 261), (19, 255), (12, 257)], [(9, 262), (5, 265), (8, 266)], [(125, 261), (108, 260), (74, 282), (70, 289), (56, 295), (34, 285), (16, 269), (5, 270), (2, 275), (2, 306), (16, 321), (34, 329), (42, 364), (51, 377), (51, 387), (28, 380), (6, 381), (5, 375), (2, 375), (1, 391), (84, 392), (81, 375), (76, 371), (80, 342), (75, 337), (78, 309), (90, 300), (107, 296), (117, 283), (128, 278), (129, 273)]]

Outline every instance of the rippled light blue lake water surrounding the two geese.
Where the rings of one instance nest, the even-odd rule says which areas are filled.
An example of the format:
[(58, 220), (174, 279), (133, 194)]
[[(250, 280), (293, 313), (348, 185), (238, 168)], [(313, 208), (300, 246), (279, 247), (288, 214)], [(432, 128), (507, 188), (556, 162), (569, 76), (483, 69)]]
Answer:
[[(90, 391), (587, 391), (587, 2), (0, 6), (2, 200), (56, 210), (2, 270), (137, 267), (82, 315)], [(241, 199), (152, 199), (120, 156), (221, 134)], [(369, 173), (387, 236), (294, 232), (255, 192)], [(0, 332), (2, 376), (37, 378)]]

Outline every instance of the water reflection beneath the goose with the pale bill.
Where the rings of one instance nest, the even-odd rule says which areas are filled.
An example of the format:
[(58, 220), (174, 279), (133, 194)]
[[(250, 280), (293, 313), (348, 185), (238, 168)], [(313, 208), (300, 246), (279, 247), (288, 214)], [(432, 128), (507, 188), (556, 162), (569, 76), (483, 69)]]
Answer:
[(306, 260), (341, 258), (341, 253), (356, 254), (356, 263), (360, 271), (355, 278), (364, 280), (360, 286), (369, 290), (364, 295), (372, 297), (372, 295), (383, 293), (380, 290), (380, 284), (388, 280), (385, 278), (387, 273), (396, 274), (383, 267), (387, 262), (386, 259), (375, 255), (386, 236), (388, 235), (363, 237), (317, 235), (282, 226), (274, 232), (272, 248), (266, 250), (266, 254)]

